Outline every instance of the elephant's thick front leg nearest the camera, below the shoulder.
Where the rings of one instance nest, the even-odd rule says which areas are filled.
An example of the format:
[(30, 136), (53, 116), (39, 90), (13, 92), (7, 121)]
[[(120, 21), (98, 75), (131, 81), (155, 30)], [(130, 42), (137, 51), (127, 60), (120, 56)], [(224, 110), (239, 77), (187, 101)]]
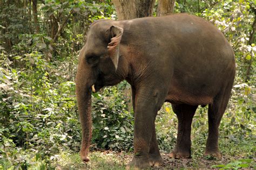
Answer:
[[(146, 168), (152, 164), (152, 155), (160, 157), (156, 146), (154, 119), (160, 104), (160, 95), (156, 90), (140, 89), (134, 100), (134, 157), (128, 167)], [(153, 142), (153, 143), (152, 143)], [(153, 147), (156, 147), (153, 149)], [(159, 160), (161, 160), (159, 158)], [(157, 161), (154, 161), (157, 165)]]

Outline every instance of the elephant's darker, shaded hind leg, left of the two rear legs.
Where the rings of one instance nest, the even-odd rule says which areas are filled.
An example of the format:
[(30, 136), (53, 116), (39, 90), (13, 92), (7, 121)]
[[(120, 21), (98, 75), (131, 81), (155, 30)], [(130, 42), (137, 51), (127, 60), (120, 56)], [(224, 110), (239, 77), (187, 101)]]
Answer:
[(190, 158), (191, 154), (191, 123), (198, 105), (172, 104), (178, 117), (178, 136), (176, 147), (170, 153), (171, 158)]

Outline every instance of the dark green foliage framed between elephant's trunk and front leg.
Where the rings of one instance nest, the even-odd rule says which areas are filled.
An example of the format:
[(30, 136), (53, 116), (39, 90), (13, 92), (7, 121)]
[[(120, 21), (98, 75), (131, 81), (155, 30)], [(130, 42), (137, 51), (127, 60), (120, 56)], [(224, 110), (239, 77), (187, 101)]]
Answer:
[(92, 143), (97, 147), (114, 151), (132, 149), (133, 115), (123, 96), (117, 87), (93, 95)]

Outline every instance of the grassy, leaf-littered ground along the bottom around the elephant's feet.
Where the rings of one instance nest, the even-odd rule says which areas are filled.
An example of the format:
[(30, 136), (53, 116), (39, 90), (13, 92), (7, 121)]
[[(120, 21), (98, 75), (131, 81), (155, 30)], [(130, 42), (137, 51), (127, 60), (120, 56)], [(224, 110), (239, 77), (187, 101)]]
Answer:
[[(164, 165), (161, 169), (170, 168), (256, 168), (255, 165), (255, 138), (232, 141), (229, 138), (220, 138), (220, 150), (223, 158), (203, 158), (205, 140), (201, 136), (194, 138), (192, 144), (192, 159), (170, 159), (167, 152), (162, 151)], [(126, 164), (132, 159), (132, 153), (113, 151), (92, 151), (89, 154), (90, 162), (84, 164), (80, 161), (79, 154), (73, 151), (64, 151), (42, 159), (32, 156), (31, 152), (19, 151), (10, 155), (8, 160), (0, 160), (0, 169), (125, 169)], [(23, 158), (15, 165), (17, 158)], [(244, 159), (244, 160), (242, 160)], [(240, 161), (241, 160), (241, 161)], [(2, 164), (2, 165), (1, 165)], [(8, 166), (7, 166), (8, 165)], [(218, 166), (214, 166), (218, 165)], [(8, 168), (6, 168), (8, 167)], [(241, 167), (240, 167), (241, 168)]]

